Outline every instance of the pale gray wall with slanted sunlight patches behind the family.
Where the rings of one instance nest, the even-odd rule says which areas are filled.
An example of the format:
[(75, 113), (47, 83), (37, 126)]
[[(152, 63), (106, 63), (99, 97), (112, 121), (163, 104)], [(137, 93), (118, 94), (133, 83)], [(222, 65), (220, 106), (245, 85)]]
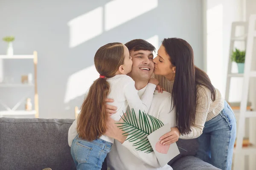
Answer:
[[(201, 0), (120, 2), (0, 1), (0, 37), (16, 37), (15, 54), (38, 51), (40, 118), (74, 118), (74, 107), (81, 105), (84, 91), (99, 76), (93, 69), (94, 54), (108, 42), (142, 38), (159, 46), (163, 38), (180, 37), (192, 45), (195, 64), (203, 68)], [(6, 47), (0, 41), (0, 54)], [(4, 75), (15, 82), (32, 69), (26, 61), (4, 62)], [(24, 93), (25, 89), (0, 89), (0, 99), (13, 106)]]

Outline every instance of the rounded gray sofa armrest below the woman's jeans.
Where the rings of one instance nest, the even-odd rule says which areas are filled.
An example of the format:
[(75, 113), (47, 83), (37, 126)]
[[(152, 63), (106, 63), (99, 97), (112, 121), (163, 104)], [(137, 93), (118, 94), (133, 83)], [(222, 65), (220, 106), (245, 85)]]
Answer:
[(184, 156), (172, 164), (173, 170), (220, 170), (195, 156)]

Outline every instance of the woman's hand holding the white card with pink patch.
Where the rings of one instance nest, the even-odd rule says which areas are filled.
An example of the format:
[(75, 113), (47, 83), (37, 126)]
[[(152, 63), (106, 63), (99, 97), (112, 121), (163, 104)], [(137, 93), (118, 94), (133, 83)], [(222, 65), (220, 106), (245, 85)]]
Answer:
[(177, 127), (172, 127), (171, 131), (160, 137), (161, 144), (168, 145), (177, 142), (180, 137), (180, 131)]

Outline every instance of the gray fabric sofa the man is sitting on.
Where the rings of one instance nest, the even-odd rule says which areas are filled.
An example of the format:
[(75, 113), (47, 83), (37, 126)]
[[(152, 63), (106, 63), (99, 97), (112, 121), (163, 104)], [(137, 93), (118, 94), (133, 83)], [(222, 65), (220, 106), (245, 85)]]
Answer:
[[(0, 170), (76, 170), (67, 144), (73, 119), (0, 118)], [(195, 140), (179, 140), (180, 155), (169, 164), (174, 170), (218, 170), (194, 157)], [(103, 170), (106, 170), (104, 163)]]

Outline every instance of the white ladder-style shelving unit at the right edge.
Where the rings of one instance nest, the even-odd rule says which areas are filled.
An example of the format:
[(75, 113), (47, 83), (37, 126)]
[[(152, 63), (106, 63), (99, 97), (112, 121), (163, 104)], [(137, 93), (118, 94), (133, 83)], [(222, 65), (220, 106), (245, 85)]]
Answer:
[[(236, 27), (237, 26), (243, 26), (244, 30), (247, 31), (245, 32), (244, 35), (236, 37), (235, 32), (236, 32)], [(244, 156), (249, 156), (249, 170), (255, 170), (255, 163), (256, 163), (256, 145), (248, 146), (248, 147), (242, 147), (243, 144), (243, 139), (245, 135), (245, 119), (246, 118), (251, 118), (249, 119), (249, 124), (250, 128), (249, 131), (255, 130), (253, 127), (253, 122), (252, 118), (256, 117), (256, 111), (251, 111), (247, 110), (247, 104), (248, 104), (248, 94), (249, 94), (249, 82), (250, 78), (255, 78), (256, 77), (256, 71), (252, 70), (252, 61), (253, 61), (253, 45), (255, 45), (254, 39), (256, 38), (256, 15), (251, 15), (249, 22), (234, 22), (232, 24), (232, 29), (231, 29), (231, 38), (230, 38), (230, 57), (232, 54), (232, 51), (234, 49), (234, 42), (235, 41), (244, 41), (245, 42), (245, 47), (246, 47), (246, 54), (245, 54), (245, 63), (244, 63), (244, 74), (233, 74), (231, 73), (231, 66), (232, 62), (231, 59), (229, 59), (229, 64), (228, 64), (228, 71), (227, 71), (227, 85), (226, 85), (226, 95), (225, 99), (226, 101), (229, 101), (229, 93), (230, 93), (230, 79), (231, 77), (242, 77), (243, 78), (243, 93), (241, 97), (241, 104), (240, 104), (240, 109), (239, 111), (236, 111), (236, 115), (239, 115), (239, 118), (237, 119), (238, 121), (238, 126), (237, 126), (237, 136), (236, 136), (236, 148), (234, 148), (234, 170), (243, 170), (245, 167), (245, 162), (244, 162)], [(251, 125), (252, 124), (252, 125)], [(250, 133), (249, 135), (249, 142), (254, 144), (255, 141), (251, 141), (252, 139), (255, 139), (256, 134)]]

